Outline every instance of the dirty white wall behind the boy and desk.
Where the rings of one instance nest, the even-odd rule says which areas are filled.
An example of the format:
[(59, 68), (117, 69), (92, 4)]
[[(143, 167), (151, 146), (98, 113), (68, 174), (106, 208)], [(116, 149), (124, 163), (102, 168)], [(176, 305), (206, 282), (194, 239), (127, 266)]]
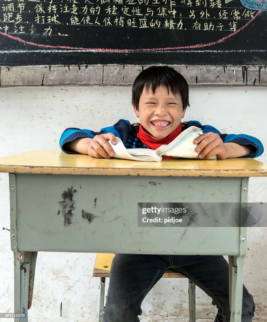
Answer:
[[(0, 97), (0, 157), (33, 149), (59, 150), (67, 127), (99, 130), (119, 118), (137, 121), (130, 87), (0, 88)], [(196, 119), (224, 133), (250, 134), (267, 147), (266, 101), (266, 87), (194, 87), (184, 120)], [(267, 163), (266, 152), (258, 160)], [(267, 202), (267, 178), (251, 179), (249, 198)], [(0, 222), (9, 228), (6, 174), (0, 174)], [(13, 312), (13, 253), (7, 230), (1, 230), (0, 247), (0, 312)], [(266, 321), (267, 316), (266, 248), (267, 229), (250, 228), (244, 284), (256, 303), (253, 321)], [(29, 321), (96, 321), (98, 278), (90, 280), (94, 259), (95, 254), (40, 252)], [(141, 321), (188, 321), (187, 297), (186, 279), (160, 280), (143, 303)], [(216, 308), (211, 299), (197, 289), (196, 301), (197, 322), (213, 321)]]

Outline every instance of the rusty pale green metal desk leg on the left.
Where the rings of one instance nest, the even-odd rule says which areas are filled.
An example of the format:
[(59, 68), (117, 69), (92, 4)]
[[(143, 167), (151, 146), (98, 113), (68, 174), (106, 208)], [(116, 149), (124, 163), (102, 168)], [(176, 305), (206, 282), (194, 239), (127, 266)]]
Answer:
[[(25, 313), (32, 305), (32, 292), (37, 252), (14, 252), (14, 312)], [(28, 322), (28, 317), (15, 318)]]

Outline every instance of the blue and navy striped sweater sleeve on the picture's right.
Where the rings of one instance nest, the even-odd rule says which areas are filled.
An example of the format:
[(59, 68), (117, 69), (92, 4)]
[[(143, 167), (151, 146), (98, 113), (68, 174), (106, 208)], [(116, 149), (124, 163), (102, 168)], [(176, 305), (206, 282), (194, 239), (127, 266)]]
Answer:
[(257, 156), (260, 156), (263, 152), (262, 142), (256, 137), (252, 137), (246, 134), (222, 134), (213, 126), (202, 125), (198, 121), (189, 121), (187, 126), (190, 127), (192, 125), (201, 128), (203, 133), (213, 132), (219, 134), (224, 143), (234, 142), (239, 145), (250, 145), (253, 148), (253, 152), (245, 156), (241, 156), (243, 158), (256, 158)]

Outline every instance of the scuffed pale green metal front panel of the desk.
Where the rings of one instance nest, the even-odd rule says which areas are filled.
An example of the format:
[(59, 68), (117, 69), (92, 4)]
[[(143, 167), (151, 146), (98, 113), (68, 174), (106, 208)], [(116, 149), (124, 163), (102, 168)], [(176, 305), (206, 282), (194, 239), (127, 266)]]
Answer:
[(10, 176), (13, 250), (239, 254), (240, 228), (137, 227), (137, 203), (240, 202), (242, 178)]

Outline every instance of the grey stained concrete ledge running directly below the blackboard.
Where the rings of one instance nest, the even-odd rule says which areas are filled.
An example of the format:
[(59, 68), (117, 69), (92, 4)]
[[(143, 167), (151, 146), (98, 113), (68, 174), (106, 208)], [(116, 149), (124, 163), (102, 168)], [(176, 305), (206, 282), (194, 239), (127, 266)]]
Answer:
[[(169, 65), (185, 76), (189, 85), (267, 85), (266, 66)], [(133, 84), (148, 65), (42, 65), (0, 67), (1, 87)]]

